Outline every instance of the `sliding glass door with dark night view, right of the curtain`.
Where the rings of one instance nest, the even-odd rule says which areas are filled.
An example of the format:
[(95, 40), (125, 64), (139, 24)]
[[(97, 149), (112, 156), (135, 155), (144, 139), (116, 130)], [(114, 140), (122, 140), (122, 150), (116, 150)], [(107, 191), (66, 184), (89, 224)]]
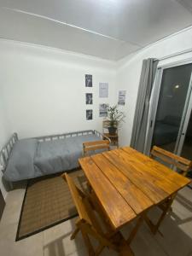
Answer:
[(192, 63), (158, 69), (147, 154), (156, 145), (192, 159), (191, 73)]

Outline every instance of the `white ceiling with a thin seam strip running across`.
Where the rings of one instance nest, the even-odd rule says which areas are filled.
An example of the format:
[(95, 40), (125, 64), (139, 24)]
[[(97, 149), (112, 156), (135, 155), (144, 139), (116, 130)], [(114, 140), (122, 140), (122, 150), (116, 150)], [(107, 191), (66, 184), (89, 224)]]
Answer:
[(0, 0), (0, 38), (112, 61), (191, 25), (191, 0)]

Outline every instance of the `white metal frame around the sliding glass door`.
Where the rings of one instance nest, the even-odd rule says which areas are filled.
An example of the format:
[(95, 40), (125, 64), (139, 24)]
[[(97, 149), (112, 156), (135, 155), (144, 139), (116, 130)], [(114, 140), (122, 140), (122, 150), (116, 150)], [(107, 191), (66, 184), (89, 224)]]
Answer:
[[(186, 64), (192, 64), (192, 58), (188, 58), (183, 61), (173, 61), (172, 63), (159, 65), (157, 67), (157, 70), (155, 73), (155, 78), (154, 78), (154, 86), (153, 86), (153, 90), (151, 93), (151, 99), (150, 99), (150, 103), (149, 103), (148, 125), (147, 125), (147, 132), (146, 132), (145, 145), (144, 145), (144, 154), (148, 154), (148, 155), (150, 154), (151, 143), (152, 143), (152, 138), (153, 138), (153, 134), (154, 134), (154, 123), (155, 123), (155, 118), (156, 118), (156, 113), (157, 113), (157, 108), (158, 108), (158, 103), (159, 103), (159, 98), (160, 98), (160, 87), (161, 87), (163, 72), (167, 68), (183, 66)], [(189, 89), (187, 92), (186, 102), (185, 102), (184, 108), (183, 108), (181, 124), (180, 124), (179, 131), (178, 131), (177, 143), (176, 143), (176, 147), (175, 147), (175, 151), (174, 151), (175, 154), (181, 154), (181, 151), (182, 151), (182, 147), (183, 147), (182, 142), (184, 142), (186, 129), (187, 129), (188, 123), (189, 123), (189, 116), (190, 116), (189, 103), (190, 102), (192, 103), (191, 91), (192, 91), (192, 73), (191, 73), (190, 80), (189, 80)], [(187, 114), (188, 114), (188, 116), (187, 116)], [(187, 117), (188, 117), (188, 119), (186, 119)]]

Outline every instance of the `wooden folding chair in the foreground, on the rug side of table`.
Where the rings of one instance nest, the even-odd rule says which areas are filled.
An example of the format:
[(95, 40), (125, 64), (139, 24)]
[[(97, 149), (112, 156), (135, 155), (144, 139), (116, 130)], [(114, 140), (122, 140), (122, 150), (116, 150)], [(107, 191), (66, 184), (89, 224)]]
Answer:
[[(112, 231), (108, 225), (105, 226), (107, 231), (103, 230), (101, 220), (98, 220), (98, 216), (101, 218), (102, 214), (93, 210), (93, 206), (89, 198), (84, 195), (83, 191), (81, 191), (75, 183), (73, 183), (73, 179), (69, 177), (67, 173), (64, 173), (61, 177), (66, 180), (73, 197), (74, 204), (79, 213), (79, 218), (76, 221), (76, 229), (73, 231), (71, 240), (77, 236), (79, 231), (81, 231), (85, 246), (87, 247), (90, 256), (99, 255), (102, 253), (104, 247), (110, 247), (122, 256), (134, 255), (119, 231)], [(102, 221), (102, 223), (106, 222)], [(90, 242), (90, 236), (96, 238), (99, 242), (96, 249), (94, 249)]]

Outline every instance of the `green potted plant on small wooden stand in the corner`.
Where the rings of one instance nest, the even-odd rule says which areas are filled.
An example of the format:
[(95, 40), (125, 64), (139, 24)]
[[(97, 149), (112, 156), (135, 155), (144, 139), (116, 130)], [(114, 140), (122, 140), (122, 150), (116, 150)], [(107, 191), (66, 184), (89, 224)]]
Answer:
[(117, 132), (117, 129), (120, 123), (124, 122), (125, 114), (122, 111), (119, 111), (118, 106), (108, 107), (108, 133), (114, 135)]

